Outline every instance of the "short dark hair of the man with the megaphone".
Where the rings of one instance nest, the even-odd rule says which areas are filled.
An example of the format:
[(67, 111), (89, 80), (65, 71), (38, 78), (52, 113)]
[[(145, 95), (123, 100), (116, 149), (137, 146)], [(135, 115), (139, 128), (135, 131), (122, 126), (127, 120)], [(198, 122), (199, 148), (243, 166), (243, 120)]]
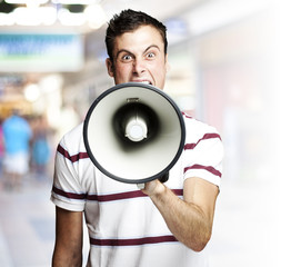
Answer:
[(114, 14), (108, 23), (106, 46), (111, 60), (113, 59), (112, 52), (116, 38), (126, 32), (134, 31), (140, 26), (152, 26), (159, 31), (164, 42), (164, 53), (167, 53), (168, 41), (165, 26), (144, 12), (127, 9), (121, 11), (120, 14)]

